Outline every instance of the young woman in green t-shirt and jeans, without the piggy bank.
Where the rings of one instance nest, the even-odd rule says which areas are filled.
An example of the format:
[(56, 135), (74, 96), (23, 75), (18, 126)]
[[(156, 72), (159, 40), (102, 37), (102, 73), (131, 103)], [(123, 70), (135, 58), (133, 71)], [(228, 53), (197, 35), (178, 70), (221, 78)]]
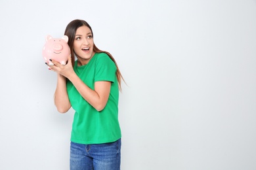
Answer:
[(72, 56), (66, 65), (53, 59), (54, 65), (47, 65), (57, 73), (57, 110), (75, 110), (70, 169), (120, 169), (118, 98), (123, 77), (112, 55), (95, 46), (87, 22), (73, 20), (64, 34)]

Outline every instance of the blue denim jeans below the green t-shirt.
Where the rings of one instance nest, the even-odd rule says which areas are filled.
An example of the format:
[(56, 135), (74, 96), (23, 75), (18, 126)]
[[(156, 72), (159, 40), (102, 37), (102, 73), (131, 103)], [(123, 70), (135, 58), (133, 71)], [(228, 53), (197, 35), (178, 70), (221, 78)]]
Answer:
[(113, 143), (70, 143), (70, 170), (119, 170), (121, 139)]

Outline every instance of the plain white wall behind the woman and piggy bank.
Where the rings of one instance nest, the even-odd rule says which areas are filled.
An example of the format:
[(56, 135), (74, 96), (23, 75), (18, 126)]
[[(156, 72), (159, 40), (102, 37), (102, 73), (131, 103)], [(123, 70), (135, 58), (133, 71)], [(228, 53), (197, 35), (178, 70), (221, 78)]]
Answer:
[(0, 1), (0, 169), (69, 169), (41, 51), (89, 22), (127, 86), (121, 169), (256, 169), (256, 1)]

